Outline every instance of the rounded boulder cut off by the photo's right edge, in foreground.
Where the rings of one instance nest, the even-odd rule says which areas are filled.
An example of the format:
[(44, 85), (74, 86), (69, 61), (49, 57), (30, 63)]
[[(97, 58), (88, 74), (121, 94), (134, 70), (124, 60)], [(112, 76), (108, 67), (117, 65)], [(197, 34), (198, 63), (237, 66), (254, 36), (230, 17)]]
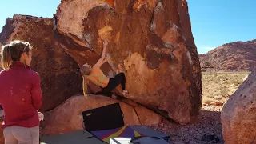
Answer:
[(256, 71), (231, 95), (222, 109), (226, 144), (256, 143)]

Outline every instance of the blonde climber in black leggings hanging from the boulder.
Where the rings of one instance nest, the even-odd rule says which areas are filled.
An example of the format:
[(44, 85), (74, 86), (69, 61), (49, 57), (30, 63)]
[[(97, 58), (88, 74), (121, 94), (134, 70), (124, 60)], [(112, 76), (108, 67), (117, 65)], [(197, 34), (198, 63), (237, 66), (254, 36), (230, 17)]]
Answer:
[(107, 95), (112, 98), (116, 98), (111, 91), (114, 90), (119, 84), (122, 86), (122, 94), (126, 96), (128, 91), (126, 90), (126, 76), (124, 73), (117, 74), (114, 78), (108, 78), (105, 74), (103, 74), (101, 70), (102, 64), (108, 62), (110, 57), (106, 56), (106, 46), (108, 42), (103, 42), (103, 50), (102, 57), (98, 60), (98, 62), (91, 67), (89, 64), (84, 64), (81, 67), (81, 73), (83, 78), (83, 93), (87, 98), (86, 88), (87, 81), (93, 82), (95, 85), (98, 85), (102, 88), (102, 94)]

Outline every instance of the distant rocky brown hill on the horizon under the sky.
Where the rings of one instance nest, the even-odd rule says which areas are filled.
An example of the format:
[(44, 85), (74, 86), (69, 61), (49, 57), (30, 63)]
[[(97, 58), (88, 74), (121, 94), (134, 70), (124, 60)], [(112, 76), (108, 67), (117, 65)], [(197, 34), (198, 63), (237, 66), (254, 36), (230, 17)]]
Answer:
[(202, 69), (222, 71), (252, 71), (256, 66), (256, 39), (232, 42), (199, 54)]

